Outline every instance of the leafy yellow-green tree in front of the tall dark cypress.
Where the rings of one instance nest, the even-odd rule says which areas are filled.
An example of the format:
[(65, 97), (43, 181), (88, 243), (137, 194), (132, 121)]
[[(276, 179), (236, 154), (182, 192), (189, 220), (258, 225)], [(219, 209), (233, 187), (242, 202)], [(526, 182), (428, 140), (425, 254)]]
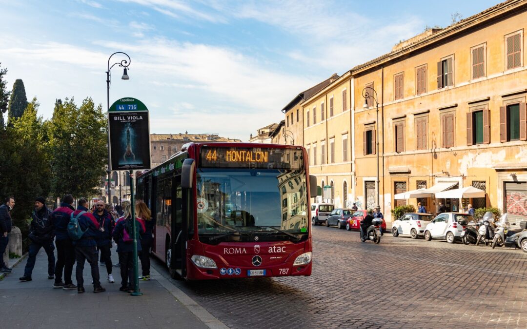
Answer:
[(27, 236), (27, 218), (35, 198), (47, 197), (51, 186), (47, 132), (42, 117), (37, 116), (38, 106), (33, 98), (22, 117), (0, 130), (0, 196), (15, 197), (13, 222), (23, 236)]

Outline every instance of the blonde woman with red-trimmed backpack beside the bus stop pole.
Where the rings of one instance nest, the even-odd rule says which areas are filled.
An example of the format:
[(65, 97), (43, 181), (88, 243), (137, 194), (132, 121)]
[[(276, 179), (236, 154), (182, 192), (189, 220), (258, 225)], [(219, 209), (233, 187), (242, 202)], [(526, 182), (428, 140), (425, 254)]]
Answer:
[[(121, 266), (121, 287), (120, 291), (133, 292), (133, 238), (132, 232), (127, 232), (125, 229), (126, 221), (131, 221), (132, 218), (132, 207), (130, 204), (126, 204), (124, 208), (124, 216), (119, 218), (115, 223), (112, 236), (113, 240), (117, 243), (117, 253), (119, 254), (119, 265)], [(139, 234), (144, 234), (144, 227), (141, 224), (139, 218), (135, 218)], [(141, 252), (141, 243), (137, 244), (138, 253)]]

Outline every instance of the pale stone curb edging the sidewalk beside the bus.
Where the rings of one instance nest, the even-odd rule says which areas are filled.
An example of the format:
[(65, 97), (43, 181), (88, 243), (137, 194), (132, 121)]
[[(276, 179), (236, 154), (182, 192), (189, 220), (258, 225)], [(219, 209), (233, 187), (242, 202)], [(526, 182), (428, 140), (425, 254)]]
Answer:
[(153, 280), (157, 280), (172, 296), (174, 296), (181, 304), (187, 307), (188, 310), (192, 312), (192, 314), (196, 315), (196, 317), (206, 326), (211, 329), (229, 328), (223, 322), (218, 320), (218, 318), (210, 314), (209, 311), (207, 311), (203, 306), (201, 306), (192, 298), (190, 298), (189, 295), (181, 291), (180, 288), (170, 283), (165, 277), (159, 274), (159, 272), (156, 271), (155, 268), (150, 267), (150, 272), (151, 274), (153, 274)]

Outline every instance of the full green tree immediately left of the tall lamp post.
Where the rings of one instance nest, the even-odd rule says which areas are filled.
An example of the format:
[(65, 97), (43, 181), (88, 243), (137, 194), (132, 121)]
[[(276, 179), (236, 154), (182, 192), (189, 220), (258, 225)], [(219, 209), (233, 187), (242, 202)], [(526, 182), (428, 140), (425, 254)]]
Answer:
[(48, 138), (53, 195), (97, 193), (108, 162), (108, 130), (102, 106), (95, 106), (91, 98), (84, 99), (80, 107), (73, 98), (64, 102), (58, 99)]

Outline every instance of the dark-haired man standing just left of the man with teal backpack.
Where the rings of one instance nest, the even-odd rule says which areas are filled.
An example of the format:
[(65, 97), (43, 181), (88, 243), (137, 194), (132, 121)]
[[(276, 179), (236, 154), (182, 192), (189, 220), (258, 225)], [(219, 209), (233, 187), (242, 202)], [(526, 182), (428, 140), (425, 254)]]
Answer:
[[(67, 224), (70, 223), (71, 214), (75, 210), (72, 206), (73, 195), (66, 194), (62, 198), (61, 206), (51, 213), (51, 225), (55, 235), (55, 246), (57, 247), (57, 262), (55, 263), (55, 283), (54, 288), (64, 290), (74, 290), (77, 288), (71, 280), (73, 265), (75, 264), (75, 247), (73, 241), (67, 234)], [(64, 282), (62, 273), (64, 270)]]

